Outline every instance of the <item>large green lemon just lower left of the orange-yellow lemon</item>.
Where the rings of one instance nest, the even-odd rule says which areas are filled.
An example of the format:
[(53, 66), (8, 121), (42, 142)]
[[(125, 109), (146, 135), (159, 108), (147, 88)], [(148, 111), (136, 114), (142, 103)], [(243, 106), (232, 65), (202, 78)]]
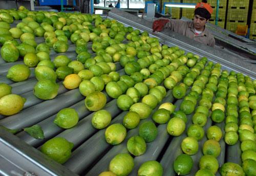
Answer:
[(51, 80), (38, 81), (34, 86), (34, 95), (42, 100), (50, 100), (58, 95), (59, 85)]

